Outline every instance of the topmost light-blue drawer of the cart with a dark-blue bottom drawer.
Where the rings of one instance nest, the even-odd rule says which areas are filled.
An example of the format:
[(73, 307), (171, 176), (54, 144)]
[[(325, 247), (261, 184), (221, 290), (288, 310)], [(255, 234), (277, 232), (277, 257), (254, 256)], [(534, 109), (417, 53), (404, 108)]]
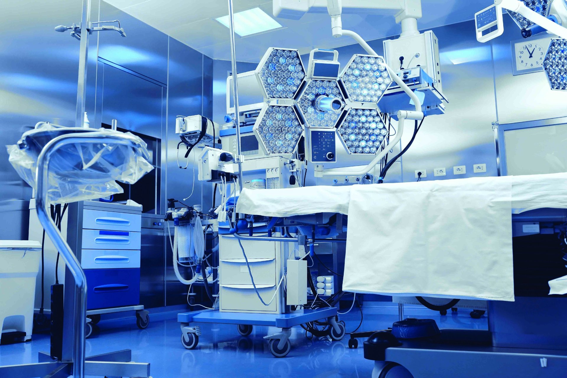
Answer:
[(83, 210), (83, 228), (90, 228), (91, 230), (140, 231), (141, 227), (141, 214)]

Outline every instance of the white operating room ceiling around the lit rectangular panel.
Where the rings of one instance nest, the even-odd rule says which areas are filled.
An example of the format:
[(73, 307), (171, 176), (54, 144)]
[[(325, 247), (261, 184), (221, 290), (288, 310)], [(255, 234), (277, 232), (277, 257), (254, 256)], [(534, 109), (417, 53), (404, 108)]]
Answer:
[[(228, 14), (227, 0), (105, 1), (206, 56), (230, 60), (229, 29), (215, 20)], [(423, 17), (418, 21), (418, 27), (431, 29), (472, 20), (475, 12), (490, 3), (490, 0), (422, 0)], [(253, 7), (273, 14), (271, 1), (234, 0), (235, 12)], [(249, 37), (236, 36), (238, 61), (258, 62), (270, 46), (297, 48), (304, 54), (315, 47), (337, 48), (353, 43), (347, 38), (332, 37), (331, 21), (327, 14), (306, 14), (301, 20), (276, 20), (284, 26), (283, 29)], [(345, 29), (353, 29), (367, 41), (400, 33), (400, 26), (392, 16), (344, 14), (342, 24)]]

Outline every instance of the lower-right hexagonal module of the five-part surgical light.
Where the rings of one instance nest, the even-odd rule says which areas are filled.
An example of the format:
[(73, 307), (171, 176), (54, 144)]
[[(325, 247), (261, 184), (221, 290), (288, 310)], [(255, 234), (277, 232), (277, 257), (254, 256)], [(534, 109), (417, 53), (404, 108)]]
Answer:
[(378, 109), (350, 109), (338, 128), (349, 154), (376, 154), (388, 134)]

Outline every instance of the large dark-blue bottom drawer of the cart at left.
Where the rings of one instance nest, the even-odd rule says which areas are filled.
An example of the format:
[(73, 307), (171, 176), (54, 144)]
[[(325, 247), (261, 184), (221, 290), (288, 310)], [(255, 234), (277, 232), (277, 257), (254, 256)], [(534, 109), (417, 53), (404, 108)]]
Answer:
[(139, 269), (85, 269), (87, 309), (139, 304)]

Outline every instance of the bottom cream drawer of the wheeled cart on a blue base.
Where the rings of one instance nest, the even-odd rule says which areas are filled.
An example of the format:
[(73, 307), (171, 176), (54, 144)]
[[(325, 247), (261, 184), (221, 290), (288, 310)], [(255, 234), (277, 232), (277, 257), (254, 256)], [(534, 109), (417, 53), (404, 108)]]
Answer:
[[(278, 311), (278, 298), (276, 298), (269, 306), (265, 306), (261, 303), (260, 299), (254, 291), (252, 285), (234, 285), (238, 287), (225, 286), (221, 284), (221, 311), (244, 311), (244, 312), (277, 312)], [(269, 287), (257, 287), (260, 296), (268, 303), (274, 291), (276, 290), (276, 285)], [(281, 288), (280, 288), (281, 290)]]

